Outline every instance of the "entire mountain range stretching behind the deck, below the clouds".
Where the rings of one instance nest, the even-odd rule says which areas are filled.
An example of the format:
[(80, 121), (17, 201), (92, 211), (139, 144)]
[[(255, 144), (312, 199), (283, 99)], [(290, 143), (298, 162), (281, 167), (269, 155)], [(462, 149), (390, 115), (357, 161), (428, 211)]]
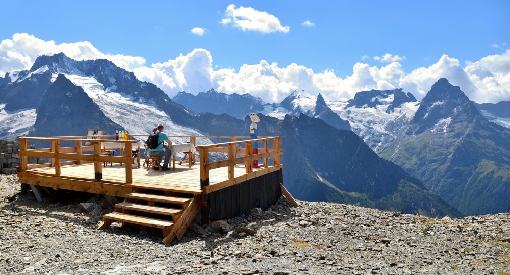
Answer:
[[(438, 87), (446, 85), (444, 80), (439, 84)], [(279, 104), (267, 104), (250, 95), (226, 95), (214, 90), (196, 96), (181, 92), (173, 101), (155, 85), (137, 80), (133, 73), (110, 61), (75, 61), (57, 54), (37, 58), (28, 71), (10, 72), (0, 78), (0, 138), (83, 135), (93, 128), (105, 129), (107, 133), (116, 129), (148, 133), (159, 122), (172, 135), (248, 135), (251, 121), (246, 115), (256, 112), (261, 117), (260, 135), (282, 136), (284, 184), (297, 198), (431, 216), (507, 211), (499, 202), (504, 195), (508, 197), (508, 190), (504, 189), (508, 186), (504, 178), (508, 171), (504, 143), (505, 138), (508, 141), (507, 130), (487, 121), (476, 108), (477, 115), (467, 114), (460, 94), (440, 99), (444, 89), (433, 87), (433, 90), (432, 94), (436, 94), (433, 98), (464, 114), (452, 117), (453, 124), (446, 128), (443, 124), (449, 121), (448, 115), (455, 112), (432, 112), (441, 105), (431, 102), (435, 99), (425, 101), (424, 98), (418, 102), (401, 89), (360, 92), (343, 102), (327, 102), (321, 95), (295, 91)], [(487, 112), (501, 115), (496, 109)], [(484, 121), (476, 124), (482, 128), (481, 132), (468, 132), (468, 122), (457, 123), (463, 118)], [(450, 128), (455, 133), (448, 135), (447, 142), (441, 140), (439, 133)], [(467, 164), (454, 161), (444, 165), (445, 155), (460, 154), (455, 153), (458, 150), (452, 151), (455, 142), (450, 139), (463, 138), (462, 133), (475, 137), (472, 143), (460, 146), (474, 147), (458, 155), (466, 162), (471, 160), (471, 164), (463, 166)], [(434, 147), (437, 150), (433, 154), (438, 157), (423, 156), (423, 148), (428, 145), (412, 139), (413, 135), (428, 135), (422, 138), (438, 144), (443, 142), (443, 147)], [(480, 138), (481, 135), (485, 138)], [(479, 150), (483, 140), (490, 142), (490, 146)], [(407, 155), (400, 154), (403, 145), (398, 144), (415, 143), (414, 147), (406, 145)], [(500, 146), (501, 152), (495, 152)], [(437, 164), (431, 165), (436, 159)], [(433, 176), (427, 172), (437, 168), (442, 170)], [(459, 169), (473, 173), (448, 172)], [(482, 176), (473, 177), (473, 174)], [(498, 178), (501, 175), (503, 178)], [(460, 182), (468, 182), (462, 177), (468, 176), (472, 181), (465, 184), (460, 199), (445, 194), (447, 186), (460, 190)], [(442, 182), (436, 186), (438, 179)], [(481, 205), (481, 199), (491, 197), (492, 187), (497, 187), (498, 194), (494, 196), (497, 199)]]

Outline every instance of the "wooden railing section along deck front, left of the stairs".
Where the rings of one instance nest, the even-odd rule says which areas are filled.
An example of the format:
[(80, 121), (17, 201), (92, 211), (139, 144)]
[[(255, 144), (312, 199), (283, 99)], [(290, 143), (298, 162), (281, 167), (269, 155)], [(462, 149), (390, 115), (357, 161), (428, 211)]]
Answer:
[[(103, 162), (133, 164), (134, 158), (131, 154), (125, 156), (104, 156), (101, 155), (101, 144), (103, 142), (124, 143), (125, 152), (131, 152), (132, 144), (135, 140), (112, 140), (106, 139), (115, 137), (115, 135), (104, 136), (73, 136), (73, 137), (19, 137), (20, 140), (20, 167), (19, 171), (26, 171), (31, 168), (55, 167), (55, 175), (60, 176), (62, 165), (81, 164), (82, 162), (94, 162), (94, 178), (93, 180), (101, 181), (103, 178)], [(102, 138), (102, 139), (97, 139)], [(28, 141), (46, 141), (50, 142), (50, 148), (29, 149)], [(75, 146), (61, 147), (61, 143), (74, 142)], [(83, 146), (84, 142), (90, 142), (92, 145)], [(92, 151), (92, 154), (84, 154), (83, 152)], [(45, 164), (28, 164), (28, 157), (49, 158), (50, 162)], [(61, 162), (61, 160), (70, 160)], [(125, 182), (133, 182), (132, 165), (125, 166)]]

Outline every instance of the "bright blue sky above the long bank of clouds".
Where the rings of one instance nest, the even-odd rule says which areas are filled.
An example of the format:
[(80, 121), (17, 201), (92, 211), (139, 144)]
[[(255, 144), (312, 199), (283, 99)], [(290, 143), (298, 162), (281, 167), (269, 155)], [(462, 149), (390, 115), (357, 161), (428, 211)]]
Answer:
[[(265, 12), (277, 18), (280, 27), (288, 31), (263, 33), (223, 24), (221, 21), (228, 17), (227, 7), (231, 4), (235, 5), (234, 9), (248, 7)], [(457, 60), (458, 66), (465, 69), (484, 57), (505, 55), (510, 48), (510, 1), (156, 1), (149, 4), (10, 1), (4, 2), (2, 8), (10, 12), (3, 12), (0, 17), (0, 40), (27, 33), (57, 45), (88, 41), (106, 55), (143, 57), (146, 67), (174, 60), (194, 49), (206, 49), (213, 70), (231, 68), (238, 72), (245, 64), (265, 60), (268, 64), (276, 62), (279, 68), (295, 63), (314, 73), (331, 71), (345, 80), (355, 74), (353, 66), (358, 62), (381, 68), (396, 61), (403, 74), (411, 74), (413, 70), (438, 63), (443, 55)], [(305, 26), (305, 21), (311, 26)], [(205, 33), (193, 34), (191, 30), (195, 27), (204, 29)], [(382, 61), (385, 54), (390, 54), (391, 61)], [(399, 78), (400, 82), (393, 86), (401, 84), (402, 76)], [(473, 85), (466, 89), (480, 89), (475, 87), (476, 83)], [(216, 88), (214, 81), (211, 86)], [(328, 85), (312, 86), (307, 90), (317, 93)], [(176, 90), (186, 87), (177, 85)], [(355, 87), (358, 86), (351, 88)], [(410, 92), (422, 97), (420, 93), (425, 88)], [(265, 89), (260, 94), (271, 92)], [(504, 96), (498, 99), (508, 96), (506, 100), (509, 100), (509, 90), (504, 87)], [(286, 92), (272, 98), (276, 100)], [(331, 98), (347, 96), (345, 92), (325, 93)], [(486, 99), (489, 97), (485, 95)]]

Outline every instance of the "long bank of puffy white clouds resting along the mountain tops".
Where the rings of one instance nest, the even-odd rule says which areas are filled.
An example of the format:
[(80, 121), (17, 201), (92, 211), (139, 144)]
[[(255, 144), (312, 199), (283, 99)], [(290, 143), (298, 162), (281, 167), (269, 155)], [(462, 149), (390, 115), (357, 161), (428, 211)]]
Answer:
[(207, 49), (194, 49), (175, 59), (147, 65), (143, 57), (101, 53), (87, 41), (57, 44), (22, 33), (0, 43), (0, 76), (29, 69), (39, 55), (60, 52), (75, 60), (108, 59), (133, 71), (139, 79), (156, 84), (171, 97), (179, 91), (197, 94), (214, 88), (224, 93), (250, 93), (266, 102), (280, 102), (293, 90), (300, 89), (336, 100), (352, 98), (363, 90), (402, 87), (421, 99), (433, 83), (445, 77), (478, 103), (510, 100), (510, 49), (465, 66), (458, 59), (443, 55), (436, 63), (411, 72), (405, 72), (398, 62), (405, 57), (386, 53), (376, 60), (389, 64), (377, 67), (358, 62), (350, 76), (342, 77), (332, 70), (315, 72), (296, 63), (282, 66), (266, 60), (244, 64), (239, 69), (215, 69)]

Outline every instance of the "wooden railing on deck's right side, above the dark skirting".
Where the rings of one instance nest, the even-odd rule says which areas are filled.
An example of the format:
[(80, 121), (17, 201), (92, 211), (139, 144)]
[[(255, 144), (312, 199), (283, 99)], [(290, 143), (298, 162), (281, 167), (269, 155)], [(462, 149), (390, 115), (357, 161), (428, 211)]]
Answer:
[[(258, 149), (257, 153), (253, 153), (254, 142), (262, 142), (264, 144), (264, 147)], [(269, 147), (270, 142), (273, 144), (273, 148)], [(238, 147), (243, 145), (244, 148)], [(222, 189), (228, 185), (244, 182), (254, 177), (261, 176), (262, 174), (282, 169), (281, 156), (283, 151), (281, 148), (280, 137), (264, 137), (242, 141), (231, 141), (225, 143), (196, 146), (196, 148), (200, 155), (200, 189), (206, 193)], [(227, 153), (227, 158), (224, 160), (209, 162), (209, 153), (211, 152)], [(241, 153), (244, 156), (238, 157), (238, 153)], [(272, 158), (273, 160), (272, 167), (268, 167), (269, 158)], [(258, 171), (254, 171), (253, 161), (262, 159), (264, 160), (264, 168)], [(234, 177), (234, 165), (241, 163), (245, 163), (246, 173), (240, 177)], [(209, 171), (220, 167), (228, 167), (228, 180), (222, 182), (221, 186), (218, 184), (210, 185)]]

